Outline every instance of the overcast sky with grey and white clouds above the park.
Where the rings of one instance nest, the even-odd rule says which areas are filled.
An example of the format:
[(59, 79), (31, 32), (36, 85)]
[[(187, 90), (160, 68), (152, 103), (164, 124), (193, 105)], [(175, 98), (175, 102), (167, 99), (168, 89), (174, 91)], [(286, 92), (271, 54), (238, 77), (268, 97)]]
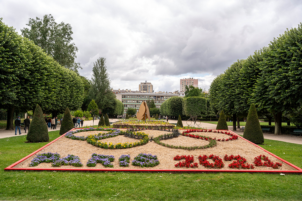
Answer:
[(52, 14), (69, 23), (82, 76), (106, 58), (114, 89), (179, 90), (183, 78), (210, 83), (237, 59), (302, 21), (302, 1), (28, 1), (0, 0), (0, 17), (21, 34), (29, 18)]

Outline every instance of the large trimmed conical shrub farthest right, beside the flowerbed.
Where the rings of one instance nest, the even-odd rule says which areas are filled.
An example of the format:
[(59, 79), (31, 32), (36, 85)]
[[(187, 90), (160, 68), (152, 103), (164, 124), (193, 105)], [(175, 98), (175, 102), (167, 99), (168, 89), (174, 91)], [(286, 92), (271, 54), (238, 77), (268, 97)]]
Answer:
[(259, 123), (255, 105), (249, 107), (249, 114), (247, 115), (246, 126), (243, 132), (243, 137), (246, 140), (255, 144), (263, 144), (264, 137)]

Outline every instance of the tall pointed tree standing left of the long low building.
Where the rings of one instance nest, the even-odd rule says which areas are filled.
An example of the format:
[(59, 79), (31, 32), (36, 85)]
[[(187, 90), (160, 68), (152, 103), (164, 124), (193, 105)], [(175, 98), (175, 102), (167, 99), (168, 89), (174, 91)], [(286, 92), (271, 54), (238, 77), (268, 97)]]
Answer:
[(109, 74), (106, 69), (106, 59), (103, 57), (93, 63), (92, 68), (92, 85), (90, 87), (90, 97), (94, 99), (98, 108), (112, 108), (115, 101), (115, 94), (112, 93), (110, 87)]

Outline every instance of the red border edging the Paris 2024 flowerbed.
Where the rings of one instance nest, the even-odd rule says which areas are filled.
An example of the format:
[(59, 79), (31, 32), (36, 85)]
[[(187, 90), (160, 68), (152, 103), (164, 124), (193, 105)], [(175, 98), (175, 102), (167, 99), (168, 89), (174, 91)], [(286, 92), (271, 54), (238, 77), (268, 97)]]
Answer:
[[(72, 128), (71, 130), (69, 131), (72, 131), (74, 130), (75, 128)], [(179, 129), (179, 130), (192, 130), (192, 129)], [(193, 129), (193, 130), (207, 130), (207, 129)], [(68, 131), (68, 132), (69, 132)], [(238, 137), (240, 137), (241, 139), (243, 140), (246, 140), (245, 138), (241, 137), (240, 135), (232, 132), (231, 130), (226, 130), (226, 131), (229, 131), (235, 135), (237, 135)], [(255, 143), (252, 143), (250, 142), (249, 140), (246, 140), (247, 142), (257, 146), (258, 148), (262, 149), (263, 151), (267, 152), (268, 154), (274, 156), (275, 158), (281, 160), (282, 162), (286, 163), (287, 165), (291, 166), (292, 168), (295, 168), (297, 170), (285, 170), (285, 171), (278, 171), (278, 169), (276, 170), (217, 170), (217, 169), (212, 169), (212, 170), (194, 170), (194, 169), (164, 169), (164, 170), (161, 170), (161, 169), (63, 169), (63, 168), (13, 168), (15, 165), (18, 165), (19, 163), (23, 162), (24, 160), (28, 159), (29, 157), (31, 157), (32, 155), (36, 154), (37, 152), (39, 152), (40, 150), (44, 149), (45, 147), (47, 147), (48, 145), (54, 143), (56, 140), (60, 139), (61, 137), (65, 136), (66, 133), (64, 133), (63, 135), (61, 135), (60, 137), (58, 137), (57, 139), (51, 141), (50, 143), (48, 143), (47, 145), (41, 147), (40, 149), (32, 152), (31, 154), (25, 156), (23, 159), (20, 159), (18, 160), (17, 162), (13, 163), (12, 165), (9, 165), (7, 168), (4, 168), (4, 170), (34, 170), (34, 171), (43, 171), (43, 170), (47, 170), (47, 171), (127, 171), (127, 172), (138, 172), (138, 171), (141, 171), (141, 172), (265, 172), (265, 173), (299, 173), (301, 174), (302, 173), (302, 169), (297, 167), (296, 165), (293, 165), (291, 164), (290, 162), (284, 160), (284, 159), (281, 159), (279, 156), (263, 149), (261, 146), (258, 146), (256, 145)]]

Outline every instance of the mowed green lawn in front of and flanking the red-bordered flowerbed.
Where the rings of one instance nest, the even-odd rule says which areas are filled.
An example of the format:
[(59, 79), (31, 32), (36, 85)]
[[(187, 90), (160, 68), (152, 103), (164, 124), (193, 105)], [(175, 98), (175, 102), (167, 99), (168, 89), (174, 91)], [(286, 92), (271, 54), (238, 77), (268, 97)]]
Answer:
[[(0, 139), (0, 200), (301, 200), (297, 174), (4, 171), (47, 144), (24, 141)], [(265, 139), (262, 147), (302, 167), (302, 145)]]

